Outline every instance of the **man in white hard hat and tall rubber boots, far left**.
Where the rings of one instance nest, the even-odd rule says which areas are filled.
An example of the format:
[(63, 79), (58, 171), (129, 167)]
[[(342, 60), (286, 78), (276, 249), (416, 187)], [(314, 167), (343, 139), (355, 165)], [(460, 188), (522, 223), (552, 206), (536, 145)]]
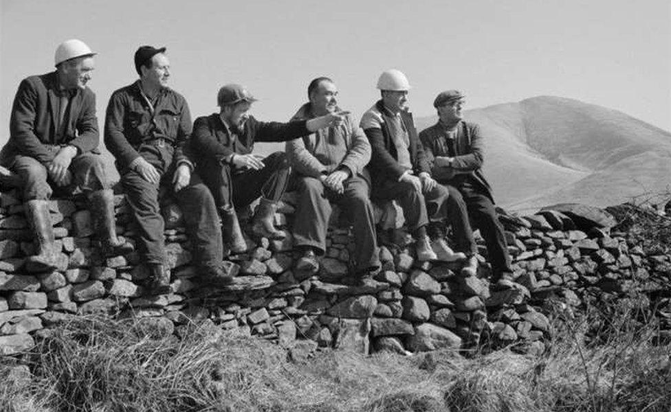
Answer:
[(25, 264), (28, 271), (67, 268), (50, 219), (48, 200), (54, 192), (72, 196), (79, 188), (87, 196), (104, 255), (133, 250), (116, 236), (113, 194), (97, 149), (96, 95), (87, 87), (95, 54), (74, 38), (61, 43), (56, 71), (25, 78), (14, 98), (10, 139), (0, 152), (0, 164), (21, 179), (37, 247)]

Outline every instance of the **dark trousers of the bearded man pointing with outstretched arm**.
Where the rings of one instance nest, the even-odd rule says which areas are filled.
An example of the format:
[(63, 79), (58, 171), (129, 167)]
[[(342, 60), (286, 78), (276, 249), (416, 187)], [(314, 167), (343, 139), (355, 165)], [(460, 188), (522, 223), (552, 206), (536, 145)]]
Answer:
[(210, 188), (219, 209), (245, 207), (263, 196), (279, 201), (289, 182), (289, 161), (284, 152), (274, 152), (263, 159), (261, 170), (231, 170), (209, 159), (199, 161), (198, 170), (203, 182)]

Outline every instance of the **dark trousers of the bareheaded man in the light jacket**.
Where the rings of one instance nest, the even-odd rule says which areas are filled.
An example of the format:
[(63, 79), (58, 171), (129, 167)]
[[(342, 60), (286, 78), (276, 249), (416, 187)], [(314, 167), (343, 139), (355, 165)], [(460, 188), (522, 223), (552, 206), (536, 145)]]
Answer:
[(299, 193), (294, 221), (296, 247), (314, 247), (324, 253), (331, 203), (336, 203), (344, 209), (353, 225), (356, 271), (380, 266), (375, 216), (369, 197), (370, 187), (365, 179), (353, 176), (345, 180), (342, 194), (328, 189), (314, 177), (296, 176), (294, 183)]

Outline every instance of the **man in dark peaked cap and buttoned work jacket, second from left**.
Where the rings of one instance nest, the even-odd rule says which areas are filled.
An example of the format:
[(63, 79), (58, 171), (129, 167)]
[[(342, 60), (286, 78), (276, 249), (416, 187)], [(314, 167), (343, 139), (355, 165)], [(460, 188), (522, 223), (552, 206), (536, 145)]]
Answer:
[(182, 95), (168, 87), (166, 48), (135, 52), (140, 79), (115, 91), (107, 105), (104, 141), (116, 158), (126, 200), (139, 228), (138, 249), (148, 267), (148, 288), (168, 293), (164, 220), (159, 194), (170, 193), (184, 214), (201, 278), (230, 282), (221, 268), (223, 244), (217, 209), (206, 185), (193, 173), (188, 151), (191, 115)]

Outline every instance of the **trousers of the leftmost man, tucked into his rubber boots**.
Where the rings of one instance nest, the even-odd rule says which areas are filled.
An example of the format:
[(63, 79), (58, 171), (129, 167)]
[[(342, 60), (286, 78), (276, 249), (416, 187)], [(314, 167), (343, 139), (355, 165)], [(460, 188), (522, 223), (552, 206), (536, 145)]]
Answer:
[[(54, 155), (61, 150), (60, 146), (47, 146), (47, 148), (52, 150)], [(54, 190), (56, 194), (68, 196), (72, 195), (77, 187), (84, 193), (109, 188), (102, 157), (91, 152), (83, 153), (72, 159), (72, 163), (67, 168), (72, 174), (72, 183), (65, 187), (57, 187), (51, 181), (46, 166), (33, 157), (17, 155), (9, 159), (3, 158), (1, 163), (19, 175), (24, 202), (47, 200), (52, 196)]]

